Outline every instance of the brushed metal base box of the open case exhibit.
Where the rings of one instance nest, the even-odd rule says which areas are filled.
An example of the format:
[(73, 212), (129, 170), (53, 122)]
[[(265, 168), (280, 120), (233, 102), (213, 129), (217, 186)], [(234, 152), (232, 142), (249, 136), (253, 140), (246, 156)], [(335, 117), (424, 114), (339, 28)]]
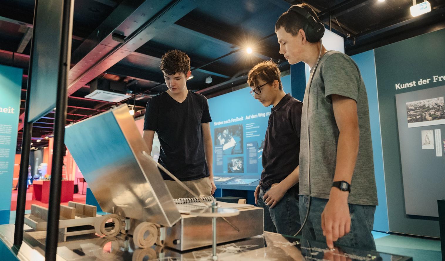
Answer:
[[(217, 218), (217, 243), (239, 240), (261, 235), (264, 232), (263, 209), (252, 207), (239, 209), (239, 215), (227, 220), (240, 231), (236, 231), (222, 218)], [(176, 244), (175, 244), (176, 243)], [(164, 245), (180, 251), (212, 244), (212, 219), (194, 215), (182, 215), (180, 222), (167, 228)]]

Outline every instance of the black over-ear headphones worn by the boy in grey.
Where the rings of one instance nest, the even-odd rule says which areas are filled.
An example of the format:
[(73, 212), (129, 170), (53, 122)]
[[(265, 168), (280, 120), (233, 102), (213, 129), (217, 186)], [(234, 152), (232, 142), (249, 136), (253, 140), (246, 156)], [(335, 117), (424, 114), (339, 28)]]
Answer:
[(293, 11), (304, 16), (307, 22), (303, 26), (303, 31), (306, 34), (306, 40), (310, 43), (318, 42), (324, 35), (324, 24), (314, 17), (306, 8), (299, 5), (292, 5), (287, 11)]

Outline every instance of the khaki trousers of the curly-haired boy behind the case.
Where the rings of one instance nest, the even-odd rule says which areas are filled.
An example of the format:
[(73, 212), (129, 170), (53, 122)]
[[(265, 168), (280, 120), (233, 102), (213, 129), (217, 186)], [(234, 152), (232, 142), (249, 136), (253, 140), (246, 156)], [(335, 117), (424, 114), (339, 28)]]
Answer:
[[(182, 198), (182, 197), (193, 197), (188, 191), (182, 188), (176, 181), (166, 181), (164, 182), (167, 185), (167, 188), (170, 190), (170, 193), (173, 198)], [(210, 182), (209, 177), (203, 177), (194, 181), (182, 181), (187, 188), (191, 189), (198, 196), (211, 196), (212, 195), (212, 184)]]

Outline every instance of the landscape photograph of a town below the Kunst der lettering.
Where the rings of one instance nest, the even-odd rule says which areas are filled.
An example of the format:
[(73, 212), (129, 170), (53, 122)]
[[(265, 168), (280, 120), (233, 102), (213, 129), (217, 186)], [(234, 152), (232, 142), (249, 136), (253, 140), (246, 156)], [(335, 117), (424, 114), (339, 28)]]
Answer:
[(445, 124), (444, 97), (406, 103), (408, 128)]

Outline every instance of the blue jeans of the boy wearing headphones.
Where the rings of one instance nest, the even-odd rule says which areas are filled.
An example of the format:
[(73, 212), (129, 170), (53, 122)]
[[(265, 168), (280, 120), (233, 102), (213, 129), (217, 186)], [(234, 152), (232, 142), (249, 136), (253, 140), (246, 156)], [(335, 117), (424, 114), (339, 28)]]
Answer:
[[(308, 196), (299, 196), (299, 211), (301, 222), (304, 221), (307, 212)], [(328, 203), (327, 199), (311, 197), (311, 209), (307, 217), (306, 225), (302, 229), (302, 236), (307, 240), (326, 242), (321, 229), (321, 213)], [(374, 213), (376, 206), (367, 205), (349, 205), (351, 215), (351, 231), (339, 238), (335, 244), (344, 245), (352, 248), (376, 250), (376, 243), (372, 236), (372, 227), (374, 226)]]

